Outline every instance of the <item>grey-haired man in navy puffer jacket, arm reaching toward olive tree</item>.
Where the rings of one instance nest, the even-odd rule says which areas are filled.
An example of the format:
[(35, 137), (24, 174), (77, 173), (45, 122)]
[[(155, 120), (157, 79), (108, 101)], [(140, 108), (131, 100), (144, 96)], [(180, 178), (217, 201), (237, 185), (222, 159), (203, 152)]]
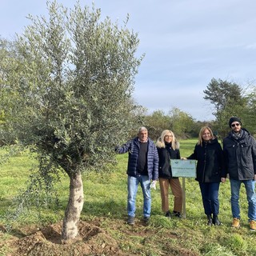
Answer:
[(142, 187), (143, 192), (143, 221), (147, 225), (150, 221), (151, 212), (151, 194), (150, 181), (158, 180), (158, 150), (154, 142), (148, 138), (146, 127), (138, 129), (138, 137), (131, 139), (126, 144), (116, 147), (118, 154), (129, 152), (127, 174), (128, 174), (128, 198), (127, 211), (129, 225), (134, 225), (136, 210), (136, 194), (138, 184)]

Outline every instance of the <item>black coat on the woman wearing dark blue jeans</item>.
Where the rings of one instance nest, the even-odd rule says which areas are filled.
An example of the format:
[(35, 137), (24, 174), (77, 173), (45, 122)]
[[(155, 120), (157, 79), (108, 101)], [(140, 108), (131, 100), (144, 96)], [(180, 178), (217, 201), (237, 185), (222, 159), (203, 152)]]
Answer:
[(226, 178), (224, 154), (217, 138), (202, 142), (202, 146), (196, 144), (194, 153), (188, 159), (198, 160), (198, 182), (221, 182), (221, 178)]

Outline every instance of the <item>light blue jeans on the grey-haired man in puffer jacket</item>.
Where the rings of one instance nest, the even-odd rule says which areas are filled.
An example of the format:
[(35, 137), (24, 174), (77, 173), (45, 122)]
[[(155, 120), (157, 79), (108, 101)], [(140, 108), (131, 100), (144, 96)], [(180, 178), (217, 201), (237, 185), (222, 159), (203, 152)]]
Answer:
[(143, 215), (150, 217), (151, 212), (151, 194), (150, 194), (150, 180), (149, 176), (137, 175), (136, 177), (128, 175), (128, 198), (127, 211), (128, 215), (134, 217), (136, 210), (136, 195), (138, 191), (138, 184), (142, 187), (143, 192)]

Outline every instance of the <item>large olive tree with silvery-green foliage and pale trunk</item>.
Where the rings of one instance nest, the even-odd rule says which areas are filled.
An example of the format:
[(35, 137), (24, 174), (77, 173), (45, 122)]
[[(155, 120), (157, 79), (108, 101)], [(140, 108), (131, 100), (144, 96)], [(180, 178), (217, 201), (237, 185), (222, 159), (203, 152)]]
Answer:
[(50, 179), (61, 167), (70, 178), (66, 241), (78, 234), (82, 171), (114, 162), (114, 146), (137, 121), (131, 93), (143, 56), (135, 56), (138, 34), (126, 28), (128, 18), (119, 27), (79, 2), (74, 10), (56, 1), (47, 9), (48, 19), (29, 16), (32, 24), (15, 42), (1, 106), (11, 117), (6, 130), (38, 154), (39, 173)]

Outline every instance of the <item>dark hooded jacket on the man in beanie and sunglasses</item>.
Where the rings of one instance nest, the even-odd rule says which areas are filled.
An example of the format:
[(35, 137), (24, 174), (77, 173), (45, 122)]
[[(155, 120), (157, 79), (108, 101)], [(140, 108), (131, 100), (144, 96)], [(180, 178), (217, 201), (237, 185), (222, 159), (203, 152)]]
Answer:
[(232, 132), (223, 140), (227, 172), (235, 180), (250, 180), (256, 174), (256, 142), (242, 128), (241, 138), (235, 139)]

